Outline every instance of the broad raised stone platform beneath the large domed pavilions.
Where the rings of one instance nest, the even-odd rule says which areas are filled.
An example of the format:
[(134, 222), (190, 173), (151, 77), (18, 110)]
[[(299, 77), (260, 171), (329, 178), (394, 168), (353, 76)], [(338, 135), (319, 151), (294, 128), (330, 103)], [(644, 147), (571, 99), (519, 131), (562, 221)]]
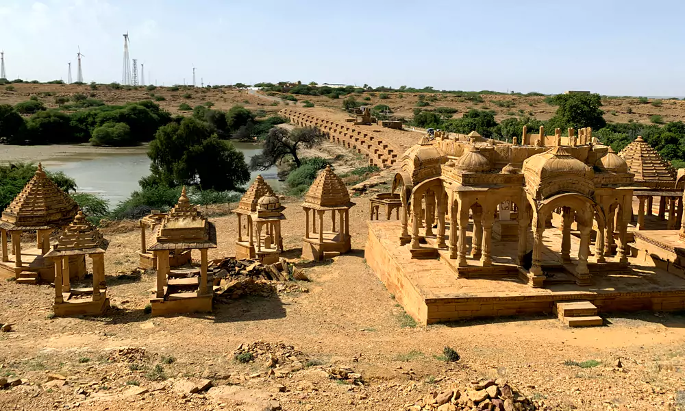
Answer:
[[(369, 221), (368, 225), (366, 262), (406, 312), (423, 324), (476, 317), (551, 315), (558, 301), (590, 301), (599, 313), (685, 309), (685, 278), (639, 258), (630, 258), (627, 269), (596, 271), (590, 286), (577, 286), (572, 275), (560, 270), (546, 280), (548, 284), (543, 288), (531, 288), (516, 275), (458, 278), (447, 266), (444, 253), (433, 260), (412, 260), (409, 246), (399, 245), (399, 222)], [(545, 247), (556, 245), (555, 236), (558, 229), (545, 230)], [(511, 242), (493, 242), (493, 262), (512, 264), (506, 251), (509, 249), (516, 252)], [(574, 252), (577, 254), (575, 240), (572, 255)], [(556, 259), (557, 253), (543, 251), (543, 263), (554, 266), (558, 264)], [(469, 266), (475, 269), (477, 261), (469, 259)], [(565, 277), (569, 277), (567, 281)]]

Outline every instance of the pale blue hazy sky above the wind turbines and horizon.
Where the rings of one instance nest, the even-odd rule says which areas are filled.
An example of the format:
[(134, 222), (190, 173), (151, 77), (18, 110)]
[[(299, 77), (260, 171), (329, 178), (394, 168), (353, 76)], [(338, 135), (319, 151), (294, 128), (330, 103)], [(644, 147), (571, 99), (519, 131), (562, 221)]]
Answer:
[[(685, 95), (685, 1), (0, 0), (8, 77)], [(147, 77), (147, 73), (146, 77)]]

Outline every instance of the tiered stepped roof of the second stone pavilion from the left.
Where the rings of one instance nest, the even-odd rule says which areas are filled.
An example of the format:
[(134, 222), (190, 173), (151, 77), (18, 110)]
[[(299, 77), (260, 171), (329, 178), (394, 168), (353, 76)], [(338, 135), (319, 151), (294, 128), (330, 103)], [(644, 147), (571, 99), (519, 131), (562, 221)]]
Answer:
[(107, 240), (79, 210), (71, 224), (60, 234), (54, 249), (47, 253), (46, 257), (104, 253), (107, 247)]

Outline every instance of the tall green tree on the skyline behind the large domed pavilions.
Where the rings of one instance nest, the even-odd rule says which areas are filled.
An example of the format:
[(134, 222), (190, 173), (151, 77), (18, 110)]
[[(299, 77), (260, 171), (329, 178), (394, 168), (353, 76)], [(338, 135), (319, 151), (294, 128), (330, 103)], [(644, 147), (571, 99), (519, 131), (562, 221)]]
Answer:
[(556, 95), (553, 101), (559, 108), (547, 122), (549, 129), (592, 127), (597, 130), (606, 125), (598, 94)]

